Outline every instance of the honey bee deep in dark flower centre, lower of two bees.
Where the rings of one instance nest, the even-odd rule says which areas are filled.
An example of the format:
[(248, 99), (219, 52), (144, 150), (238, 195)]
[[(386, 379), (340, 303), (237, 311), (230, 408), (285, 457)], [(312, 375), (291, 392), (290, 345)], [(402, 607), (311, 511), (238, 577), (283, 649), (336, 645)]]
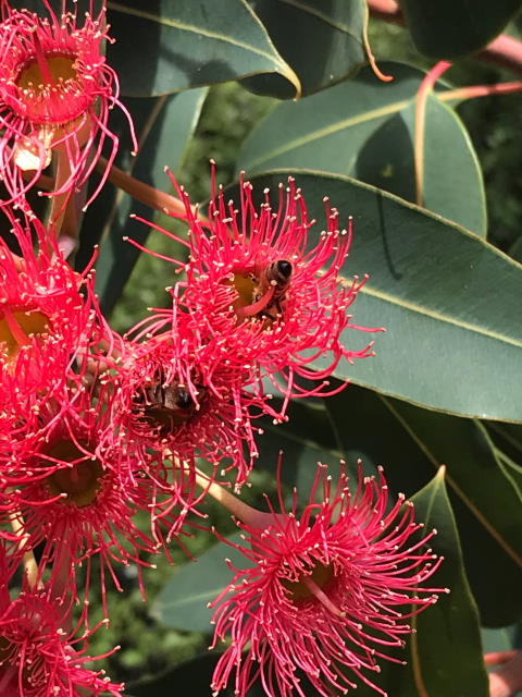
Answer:
[[(141, 420), (167, 435), (188, 421), (199, 405), (189, 390), (177, 380), (165, 382), (163, 375), (150, 386), (144, 386), (134, 396), (134, 412)], [(198, 395), (203, 388), (198, 386)]]

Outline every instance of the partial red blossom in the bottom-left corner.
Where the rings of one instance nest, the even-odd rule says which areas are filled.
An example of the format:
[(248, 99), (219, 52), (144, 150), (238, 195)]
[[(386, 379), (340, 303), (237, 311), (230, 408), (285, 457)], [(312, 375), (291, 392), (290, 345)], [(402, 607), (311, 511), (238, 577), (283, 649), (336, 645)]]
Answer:
[[(86, 655), (92, 632), (63, 628), (70, 623), (63, 604), (47, 589), (24, 590), (0, 603), (0, 694), (5, 697), (73, 697), (79, 694), (122, 697), (123, 685), (86, 663), (105, 656)], [(87, 692), (80, 692), (80, 690)]]

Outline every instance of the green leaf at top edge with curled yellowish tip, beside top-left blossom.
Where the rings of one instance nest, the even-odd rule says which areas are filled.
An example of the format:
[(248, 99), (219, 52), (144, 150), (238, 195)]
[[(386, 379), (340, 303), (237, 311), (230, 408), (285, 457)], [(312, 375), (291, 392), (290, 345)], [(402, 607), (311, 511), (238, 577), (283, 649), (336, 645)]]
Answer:
[(149, 97), (277, 73), (300, 85), (245, 0), (123, 0), (108, 3), (117, 41), (109, 61), (124, 95)]

